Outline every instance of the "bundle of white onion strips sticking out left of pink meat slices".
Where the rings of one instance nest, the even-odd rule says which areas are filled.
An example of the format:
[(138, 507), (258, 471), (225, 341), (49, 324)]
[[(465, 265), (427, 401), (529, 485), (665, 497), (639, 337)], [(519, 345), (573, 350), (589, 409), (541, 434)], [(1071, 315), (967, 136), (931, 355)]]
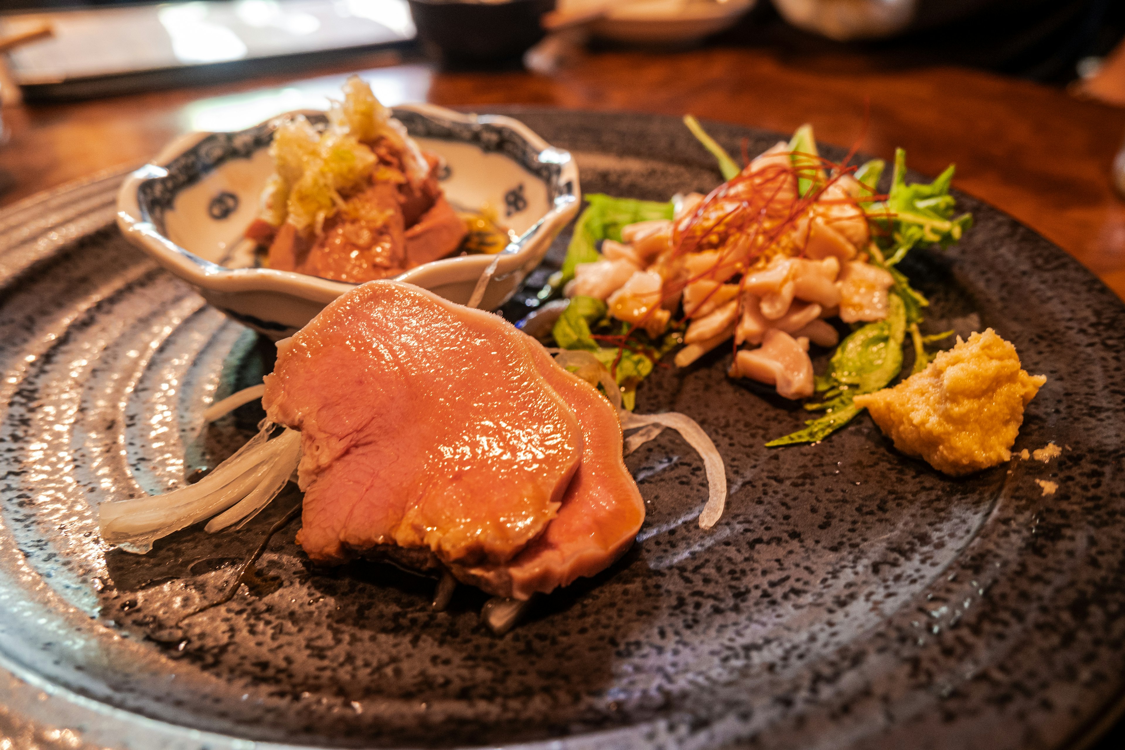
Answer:
[[(263, 422), (250, 442), (195, 485), (163, 495), (102, 503), (98, 507), (101, 537), (127, 552), (144, 554), (158, 539), (222, 513), (248, 497), (253, 497), (253, 501), (226, 521), (235, 523), (256, 513), (251, 506), (258, 505), (260, 509), (277, 495), (273, 493), (262, 500), (268, 494), (263, 486), (272, 487), (279, 475), (288, 479), (300, 457), (299, 436), (294, 458), (291, 436), (282, 434), (269, 440), (273, 426)], [(278, 491), (284, 486), (282, 482)]]

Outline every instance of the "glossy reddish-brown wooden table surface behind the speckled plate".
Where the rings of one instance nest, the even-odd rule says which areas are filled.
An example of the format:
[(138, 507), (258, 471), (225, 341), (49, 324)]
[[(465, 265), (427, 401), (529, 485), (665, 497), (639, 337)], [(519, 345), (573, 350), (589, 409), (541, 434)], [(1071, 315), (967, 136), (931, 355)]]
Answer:
[[(1125, 110), (1081, 101), (1026, 81), (954, 67), (875, 70), (862, 56), (800, 61), (748, 48), (673, 54), (605, 52), (551, 74), (448, 73), (396, 53), (359, 58), (386, 103), (431, 101), (487, 110), (493, 105), (692, 112), (783, 133), (813, 123), (820, 141), (936, 174), (957, 165), (954, 184), (1054, 241), (1125, 297), (1125, 204), (1110, 163), (1125, 138)], [(191, 129), (236, 129), (300, 106), (324, 106), (345, 70), (309, 70), (299, 80), (123, 96), (3, 110), (10, 139), (0, 171), (15, 184), (8, 205), (99, 170), (138, 164)]]

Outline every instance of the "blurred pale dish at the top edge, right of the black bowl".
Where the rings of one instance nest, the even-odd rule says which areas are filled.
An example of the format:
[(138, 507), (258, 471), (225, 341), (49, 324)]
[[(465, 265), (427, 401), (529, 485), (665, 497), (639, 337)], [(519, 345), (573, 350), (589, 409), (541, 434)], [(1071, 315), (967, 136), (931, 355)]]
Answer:
[(735, 25), (756, 0), (560, 0), (558, 16), (588, 19), (590, 30), (626, 44), (684, 45)]

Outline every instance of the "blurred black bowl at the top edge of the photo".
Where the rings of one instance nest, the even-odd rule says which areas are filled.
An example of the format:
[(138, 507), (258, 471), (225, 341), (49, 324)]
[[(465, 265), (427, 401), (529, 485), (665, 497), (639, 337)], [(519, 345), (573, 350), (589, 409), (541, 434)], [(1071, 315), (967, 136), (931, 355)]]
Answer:
[(555, 0), (442, 2), (410, 0), (418, 39), (450, 64), (516, 60), (543, 38), (540, 19)]

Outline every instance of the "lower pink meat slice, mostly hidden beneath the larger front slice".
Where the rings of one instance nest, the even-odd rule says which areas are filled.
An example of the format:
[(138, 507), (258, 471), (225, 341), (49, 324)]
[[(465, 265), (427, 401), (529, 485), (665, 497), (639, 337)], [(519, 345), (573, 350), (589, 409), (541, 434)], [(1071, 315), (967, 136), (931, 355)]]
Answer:
[(645, 501), (621, 459), (621, 424), (610, 403), (567, 372), (536, 341), (518, 333), (540, 373), (570, 404), (582, 425), (582, 466), (542, 535), (503, 566), (453, 566), (453, 575), (489, 594), (526, 599), (610, 567), (632, 544)]

